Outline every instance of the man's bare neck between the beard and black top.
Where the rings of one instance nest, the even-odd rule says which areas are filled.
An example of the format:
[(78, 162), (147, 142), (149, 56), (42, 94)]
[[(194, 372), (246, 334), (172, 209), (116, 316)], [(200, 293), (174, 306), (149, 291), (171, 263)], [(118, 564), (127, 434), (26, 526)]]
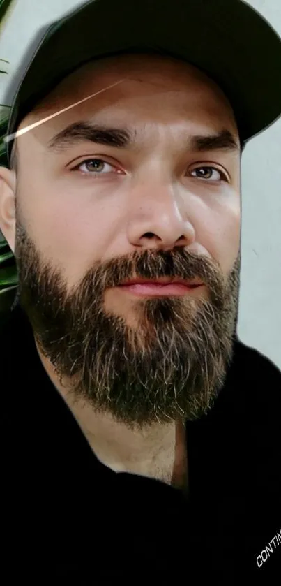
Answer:
[(172, 420), (143, 430), (130, 429), (110, 413), (96, 413), (93, 406), (70, 393), (54, 373), (50, 362), (36, 347), (52, 383), (72, 411), (96, 457), (116, 472), (130, 472), (183, 488), (187, 483), (185, 425)]

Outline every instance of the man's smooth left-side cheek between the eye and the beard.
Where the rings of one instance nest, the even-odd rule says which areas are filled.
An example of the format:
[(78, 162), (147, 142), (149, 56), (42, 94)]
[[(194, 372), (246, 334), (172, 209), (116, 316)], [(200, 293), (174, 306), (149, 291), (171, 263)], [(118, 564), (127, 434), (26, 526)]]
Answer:
[(21, 200), (29, 235), (46, 258), (63, 267), (68, 283), (106, 256), (119, 224), (120, 210), (113, 202), (109, 206), (69, 186), (35, 181), (21, 189)]

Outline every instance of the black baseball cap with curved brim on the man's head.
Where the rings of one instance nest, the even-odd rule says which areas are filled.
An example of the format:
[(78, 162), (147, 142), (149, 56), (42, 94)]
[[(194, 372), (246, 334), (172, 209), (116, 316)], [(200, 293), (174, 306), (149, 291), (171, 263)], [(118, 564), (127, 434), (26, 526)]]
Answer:
[[(47, 29), (17, 89), (8, 122), (21, 120), (66, 75), (110, 55), (156, 52), (212, 78), (232, 105), (243, 142), (281, 114), (281, 39), (242, 0), (91, 0)], [(13, 140), (7, 141), (7, 156)]]

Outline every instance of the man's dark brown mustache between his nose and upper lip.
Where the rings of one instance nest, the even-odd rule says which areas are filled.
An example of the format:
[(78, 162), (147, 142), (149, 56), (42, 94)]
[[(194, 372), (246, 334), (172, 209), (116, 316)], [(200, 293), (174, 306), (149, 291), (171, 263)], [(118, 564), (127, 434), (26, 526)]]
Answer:
[(181, 247), (169, 251), (135, 251), (130, 256), (119, 256), (103, 263), (96, 263), (83, 281), (94, 284), (95, 288), (102, 292), (105, 288), (121, 285), (125, 280), (153, 280), (160, 277), (199, 279), (216, 295), (225, 285), (225, 274), (220, 270), (217, 261)]

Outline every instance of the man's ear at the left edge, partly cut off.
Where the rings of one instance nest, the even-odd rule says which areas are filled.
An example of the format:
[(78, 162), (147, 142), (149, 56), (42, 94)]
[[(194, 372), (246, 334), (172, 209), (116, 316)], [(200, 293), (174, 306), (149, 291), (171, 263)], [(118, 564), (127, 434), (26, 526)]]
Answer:
[(0, 230), (15, 251), (15, 171), (0, 166)]

